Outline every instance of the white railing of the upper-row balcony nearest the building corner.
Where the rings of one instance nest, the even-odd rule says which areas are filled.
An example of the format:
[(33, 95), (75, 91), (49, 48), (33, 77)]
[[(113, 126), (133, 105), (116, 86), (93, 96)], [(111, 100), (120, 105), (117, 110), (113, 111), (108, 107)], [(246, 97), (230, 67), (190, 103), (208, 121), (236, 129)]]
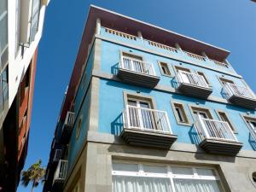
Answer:
[(121, 56), (120, 68), (130, 70), (131, 72), (143, 73), (155, 76), (152, 63), (139, 61), (130, 57)]

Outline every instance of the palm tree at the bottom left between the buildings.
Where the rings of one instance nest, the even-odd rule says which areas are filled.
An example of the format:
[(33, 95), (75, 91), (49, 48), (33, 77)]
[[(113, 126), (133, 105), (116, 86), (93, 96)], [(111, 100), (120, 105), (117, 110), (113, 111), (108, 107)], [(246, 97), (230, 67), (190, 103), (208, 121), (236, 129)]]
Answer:
[(33, 192), (34, 188), (38, 186), (40, 180), (44, 178), (45, 169), (41, 167), (42, 160), (38, 160), (37, 163), (30, 166), (26, 171), (23, 171), (21, 174), (21, 182), (24, 186), (27, 186), (32, 182)]

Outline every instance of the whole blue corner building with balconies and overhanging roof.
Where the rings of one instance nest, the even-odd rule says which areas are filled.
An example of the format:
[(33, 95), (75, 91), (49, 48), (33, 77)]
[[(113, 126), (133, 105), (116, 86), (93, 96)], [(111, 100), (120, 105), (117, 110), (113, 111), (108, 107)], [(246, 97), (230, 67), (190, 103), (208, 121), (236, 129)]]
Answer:
[(44, 191), (255, 191), (256, 97), (229, 54), (90, 6)]

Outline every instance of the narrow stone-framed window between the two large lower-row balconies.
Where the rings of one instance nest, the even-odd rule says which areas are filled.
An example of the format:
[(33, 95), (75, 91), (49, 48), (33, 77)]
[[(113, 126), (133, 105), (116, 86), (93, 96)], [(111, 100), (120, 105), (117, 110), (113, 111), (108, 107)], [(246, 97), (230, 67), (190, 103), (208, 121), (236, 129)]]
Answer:
[(172, 102), (172, 110), (175, 115), (177, 124), (179, 125), (190, 125), (187, 114), (185, 113), (182, 103)]

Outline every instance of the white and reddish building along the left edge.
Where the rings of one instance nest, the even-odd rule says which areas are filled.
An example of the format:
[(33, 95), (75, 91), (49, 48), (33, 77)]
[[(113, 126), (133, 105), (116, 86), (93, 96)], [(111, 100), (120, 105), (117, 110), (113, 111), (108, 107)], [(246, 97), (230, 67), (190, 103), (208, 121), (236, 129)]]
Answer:
[(26, 160), (38, 43), (48, 3), (0, 3), (0, 191), (16, 190)]

